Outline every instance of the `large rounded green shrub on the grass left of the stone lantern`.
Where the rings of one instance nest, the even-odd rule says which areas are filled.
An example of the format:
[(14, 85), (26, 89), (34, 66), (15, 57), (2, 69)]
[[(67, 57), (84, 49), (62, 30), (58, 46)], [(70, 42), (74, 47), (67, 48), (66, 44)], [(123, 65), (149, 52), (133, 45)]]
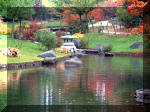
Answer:
[(43, 46), (45, 46), (48, 50), (56, 47), (56, 37), (50, 30), (38, 30), (34, 33), (34, 36), (39, 38), (40, 43)]

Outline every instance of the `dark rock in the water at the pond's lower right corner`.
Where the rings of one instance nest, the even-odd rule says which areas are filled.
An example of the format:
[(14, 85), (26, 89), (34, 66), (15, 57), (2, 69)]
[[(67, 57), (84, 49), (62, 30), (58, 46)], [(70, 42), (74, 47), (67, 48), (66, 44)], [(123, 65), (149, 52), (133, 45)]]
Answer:
[(150, 89), (138, 89), (135, 92), (137, 102), (150, 103)]

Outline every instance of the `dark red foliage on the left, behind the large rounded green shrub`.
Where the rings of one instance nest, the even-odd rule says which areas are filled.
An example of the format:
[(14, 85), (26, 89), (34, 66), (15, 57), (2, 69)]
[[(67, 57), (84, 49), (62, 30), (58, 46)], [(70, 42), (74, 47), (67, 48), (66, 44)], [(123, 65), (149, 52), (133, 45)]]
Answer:
[(38, 19), (35, 18), (29, 25), (22, 26), (21, 33), (23, 34), (23, 40), (30, 40), (35, 38), (34, 32), (43, 28), (43, 24), (38, 24)]

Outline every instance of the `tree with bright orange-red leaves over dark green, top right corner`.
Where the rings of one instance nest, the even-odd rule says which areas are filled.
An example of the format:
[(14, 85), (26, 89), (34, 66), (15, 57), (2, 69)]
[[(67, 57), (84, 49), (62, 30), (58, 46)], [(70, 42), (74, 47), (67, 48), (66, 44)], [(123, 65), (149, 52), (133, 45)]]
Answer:
[[(119, 4), (119, 3), (118, 3)], [(143, 7), (147, 2), (139, 0), (125, 0), (120, 4), (120, 8), (116, 10), (118, 20), (121, 21), (126, 28), (137, 27), (143, 21)]]

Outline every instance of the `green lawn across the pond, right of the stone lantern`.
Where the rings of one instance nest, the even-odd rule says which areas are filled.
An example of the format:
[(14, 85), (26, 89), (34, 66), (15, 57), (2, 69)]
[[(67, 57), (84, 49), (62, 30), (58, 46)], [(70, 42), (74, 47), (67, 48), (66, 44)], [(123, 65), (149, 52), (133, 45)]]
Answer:
[(99, 48), (98, 43), (105, 45), (112, 44), (112, 52), (135, 52), (137, 50), (143, 51), (143, 46), (139, 49), (130, 49), (129, 47), (138, 40), (143, 42), (143, 38), (140, 35), (131, 35), (123, 37), (109, 37), (108, 34), (100, 34), (90, 32), (85, 35), (85, 38), (89, 38), (89, 48)]

